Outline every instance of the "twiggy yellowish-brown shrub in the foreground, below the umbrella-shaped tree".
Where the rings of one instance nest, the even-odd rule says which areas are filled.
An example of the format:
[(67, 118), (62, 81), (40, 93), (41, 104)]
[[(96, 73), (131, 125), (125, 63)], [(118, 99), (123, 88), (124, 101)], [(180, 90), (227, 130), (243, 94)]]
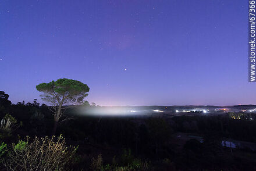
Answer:
[(3, 165), (9, 170), (66, 170), (65, 166), (77, 147), (67, 147), (62, 135), (51, 138), (35, 137), (12, 144)]

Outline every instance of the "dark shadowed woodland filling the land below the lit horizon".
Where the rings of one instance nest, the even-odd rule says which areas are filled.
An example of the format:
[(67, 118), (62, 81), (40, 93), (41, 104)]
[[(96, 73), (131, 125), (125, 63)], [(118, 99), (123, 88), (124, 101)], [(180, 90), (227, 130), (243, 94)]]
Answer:
[[(47, 105), (40, 105), (36, 99), (12, 104), (8, 97), (5, 92), (0, 93), (0, 119), (15, 119), (16, 127), (8, 133), (1, 127), (0, 143), (11, 146), (26, 136), (51, 136), (54, 119)], [(71, 161), (59, 170), (256, 169), (254, 151), (221, 145), (223, 138), (256, 143), (254, 120), (230, 119), (229, 115), (88, 117), (76, 115), (73, 108), (67, 109), (66, 115), (71, 119), (59, 124), (56, 136), (62, 134), (67, 146), (79, 147)], [(179, 134), (201, 136), (204, 143), (179, 139)], [(8, 170), (5, 162), (1, 163), (1, 169)]]

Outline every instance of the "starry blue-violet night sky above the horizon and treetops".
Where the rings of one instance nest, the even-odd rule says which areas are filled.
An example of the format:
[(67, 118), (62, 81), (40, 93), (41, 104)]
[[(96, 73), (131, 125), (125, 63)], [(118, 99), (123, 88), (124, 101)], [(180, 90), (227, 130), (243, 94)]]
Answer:
[(98, 105), (256, 104), (247, 3), (1, 0), (0, 90), (31, 102), (65, 77)]

